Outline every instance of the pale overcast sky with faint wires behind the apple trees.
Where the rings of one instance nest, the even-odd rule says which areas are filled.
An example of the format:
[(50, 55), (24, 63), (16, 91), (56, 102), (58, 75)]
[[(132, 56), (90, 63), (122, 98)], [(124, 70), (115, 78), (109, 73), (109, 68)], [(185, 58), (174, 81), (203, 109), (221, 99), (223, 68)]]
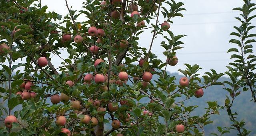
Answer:
[[(74, 2), (75, 1), (75, 2)], [(72, 10), (81, 10), (82, 2), (84, 0), (68, 0), (69, 6)], [(178, 2), (178, 0), (175, 0)], [(229, 48), (236, 45), (229, 44), (228, 41), (234, 37), (229, 34), (234, 31), (234, 25), (240, 23), (234, 19), (239, 16), (238, 11), (232, 11), (235, 7), (241, 7), (242, 0), (180, 0), (184, 2), (184, 8), (187, 11), (183, 12), (184, 17), (175, 17), (173, 24), (169, 30), (174, 35), (188, 35), (181, 39), (185, 44), (182, 45), (184, 49), (178, 50), (176, 56), (179, 63), (176, 66), (168, 66), (167, 70), (170, 72), (177, 72), (178, 69), (184, 69), (184, 63), (199, 64), (203, 69), (199, 71), (200, 74), (214, 69), (217, 72), (225, 72), (226, 66), (231, 60), (230, 54), (227, 54)], [(252, 0), (255, 3), (255, 0)], [(48, 11), (54, 11), (61, 14), (62, 17), (68, 14), (65, 0), (42, 0), (42, 5), (48, 6)], [(255, 13), (255, 12), (254, 12)], [(84, 21), (84, 16), (80, 16), (78, 21)], [(160, 16), (160, 22), (164, 21), (163, 16)], [(253, 24), (255, 23), (255, 19)], [(154, 23), (152, 20), (150, 23)], [(149, 25), (148, 25), (149, 26)], [(146, 47), (150, 46), (150, 39), (152, 38), (151, 30), (145, 31), (140, 35), (139, 45)], [(256, 33), (255, 29), (252, 31)], [(166, 33), (166, 35), (168, 35)], [(160, 46), (162, 36), (154, 41), (152, 51), (158, 55), (162, 61), (166, 57), (162, 54), (164, 48)], [(255, 51), (255, 46), (254, 46)], [(67, 54), (62, 54), (67, 57)], [(57, 57), (53, 57), (52, 62), (55, 66), (60, 64)]]

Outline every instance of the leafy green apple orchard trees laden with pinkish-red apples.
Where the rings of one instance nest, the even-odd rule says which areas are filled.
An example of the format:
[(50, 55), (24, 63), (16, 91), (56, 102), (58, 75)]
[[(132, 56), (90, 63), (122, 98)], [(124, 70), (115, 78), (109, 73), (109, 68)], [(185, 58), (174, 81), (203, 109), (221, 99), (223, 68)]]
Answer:
[[(178, 0), (84, 0), (79, 10), (63, 0), (64, 17), (46, 12), (41, 0), (0, 0), (0, 84), (8, 84), (0, 87), (0, 99), (8, 103), (0, 104), (0, 136), (201, 136), (220, 109), (234, 122), (230, 130), (248, 135), (231, 111), (241, 88), (256, 102), (256, 56), (249, 45), (255, 40), (247, 39), (256, 36), (248, 32), (256, 8), (243, 1), (234, 10), (245, 20), (237, 17), (240, 33), (231, 33), (240, 38), (230, 40), (238, 47), (228, 50), (238, 52), (231, 56), (238, 60), (227, 66), (231, 81), (219, 82), (223, 73), (200, 75), (197, 64), (184, 64), (180, 79), (167, 72), (179, 63), (176, 52), (186, 36), (172, 32), (173, 18), (186, 11)], [(145, 29), (153, 29), (147, 49), (138, 42)], [(162, 38), (157, 44), (166, 50), (164, 60), (152, 51), (156, 37)], [(61, 66), (52, 63), (52, 55)], [(212, 85), (225, 85), (225, 105), (207, 101), (204, 115), (191, 115), (198, 106), (184, 103), (192, 97), (202, 101)]]

